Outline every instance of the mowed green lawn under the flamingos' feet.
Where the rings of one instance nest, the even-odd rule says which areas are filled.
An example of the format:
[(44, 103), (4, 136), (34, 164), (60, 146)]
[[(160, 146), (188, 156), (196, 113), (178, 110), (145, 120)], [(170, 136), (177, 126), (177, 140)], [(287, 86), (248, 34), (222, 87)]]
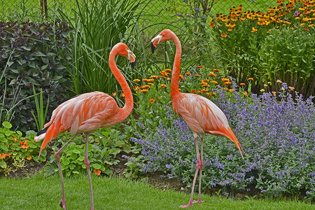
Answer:
[[(67, 209), (90, 209), (90, 191), (86, 174), (65, 178)], [(27, 179), (0, 179), (0, 209), (60, 209), (59, 174)], [(95, 209), (181, 209), (189, 195), (172, 190), (158, 190), (146, 181), (128, 181), (92, 176)], [(197, 200), (197, 195), (194, 197)], [(202, 195), (204, 203), (190, 209), (314, 209), (296, 201), (232, 200)]]

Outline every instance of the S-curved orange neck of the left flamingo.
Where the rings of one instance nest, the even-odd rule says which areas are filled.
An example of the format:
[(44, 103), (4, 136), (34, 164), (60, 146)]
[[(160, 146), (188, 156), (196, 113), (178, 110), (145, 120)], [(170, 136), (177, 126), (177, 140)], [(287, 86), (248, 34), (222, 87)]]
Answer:
[(123, 76), (123, 73), (119, 71), (116, 65), (116, 55), (118, 55), (118, 48), (113, 48), (109, 54), (109, 68), (111, 69), (111, 72), (113, 72), (113, 76), (115, 76), (116, 80), (118, 80), (118, 83), (125, 94), (125, 106), (122, 108), (123, 115), (120, 115), (120, 118), (125, 119), (130, 115), (132, 109), (134, 108), (134, 98), (132, 97), (132, 92), (125, 79), (125, 76)]

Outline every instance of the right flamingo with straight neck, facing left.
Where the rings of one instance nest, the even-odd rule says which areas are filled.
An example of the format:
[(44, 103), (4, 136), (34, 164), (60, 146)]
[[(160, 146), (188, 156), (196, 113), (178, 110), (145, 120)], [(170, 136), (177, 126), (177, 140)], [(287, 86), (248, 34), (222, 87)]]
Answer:
[[(179, 41), (179, 38), (176, 36), (176, 34), (174, 34), (173, 31), (169, 29), (164, 29), (160, 34), (158, 34), (158, 36), (155, 36), (155, 38), (151, 40), (151, 50), (152, 52), (154, 52), (158, 43), (168, 40), (173, 40), (176, 44), (176, 54), (171, 81), (171, 99), (173, 109), (181, 118), (185, 120), (190, 130), (192, 130), (197, 151), (197, 165), (190, 200), (187, 205), (181, 205), (181, 207), (192, 207), (193, 203), (204, 202), (200, 199), (202, 166), (204, 165), (204, 134), (207, 133), (216, 136), (228, 137), (228, 139), (232, 140), (235, 143), (235, 145), (239, 149), (239, 153), (241, 153), (241, 150), (243, 150), (243, 148), (241, 148), (241, 144), (239, 144), (239, 141), (237, 141), (237, 137), (235, 137), (235, 134), (230, 128), (228, 120), (225, 117), (223, 111), (221, 111), (221, 109), (219, 109), (216, 104), (211, 102), (209, 99), (200, 96), (199, 94), (179, 92), (179, 71), (181, 66), (181, 42)], [(198, 134), (200, 134), (200, 153), (197, 140)], [(241, 158), (243, 158), (242, 153)], [(193, 193), (199, 170), (199, 197), (197, 201), (193, 201)]]

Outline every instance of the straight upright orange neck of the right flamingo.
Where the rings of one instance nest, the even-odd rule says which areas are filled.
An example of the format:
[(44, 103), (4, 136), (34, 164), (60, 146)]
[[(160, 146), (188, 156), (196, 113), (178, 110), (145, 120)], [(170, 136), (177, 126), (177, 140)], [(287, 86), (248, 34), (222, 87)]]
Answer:
[(176, 45), (176, 53), (172, 71), (171, 98), (174, 99), (179, 94), (179, 73), (181, 71), (181, 42), (176, 34), (173, 33), (172, 40)]

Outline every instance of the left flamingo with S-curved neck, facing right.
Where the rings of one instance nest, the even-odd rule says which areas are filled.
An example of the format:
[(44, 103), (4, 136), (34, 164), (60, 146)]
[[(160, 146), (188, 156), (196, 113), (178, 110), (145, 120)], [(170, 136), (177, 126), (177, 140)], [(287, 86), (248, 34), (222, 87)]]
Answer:
[(118, 83), (123, 89), (125, 94), (125, 106), (120, 108), (115, 99), (104, 92), (94, 91), (80, 94), (60, 104), (57, 109), (52, 111), (50, 122), (46, 123), (43, 127), (43, 130), (38, 132), (37, 136), (35, 137), (36, 141), (44, 139), (39, 152), (39, 155), (41, 155), (43, 148), (45, 148), (50, 140), (56, 139), (58, 134), (65, 131), (69, 131), (71, 134), (73, 134), (69, 141), (67, 141), (66, 144), (64, 144), (64, 146), (62, 146), (62, 148), (60, 148), (59, 151), (55, 153), (55, 160), (59, 168), (62, 184), (62, 200), (60, 201), (59, 205), (64, 209), (66, 209), (66, 198), (64, 196), (64, 180), (62, 177), (62, 169), (59, 161), (60, 153), (79, 134), (86, 134), (84, 162), (90, 183), (91, 209), (94, 209), (90, 162), (87, 155), (89, 135), (99, 127), (110, 127), (122, 122), (125, 120), (125, 118), (127, 118), (127, 116), (130, 115), (134, 107), (134, 101), (130, 87), (115, 63), (116, 55), (128, 57), (132, 64), (132, 69), (136, 61), (136, 56), (127, 47), (127, 45), (125, 45), (125, 43), (117, 43), (114, 45), (111, 53), (109, 54), (109, 66), (113, 72), (113, 75), (118, 80)]

